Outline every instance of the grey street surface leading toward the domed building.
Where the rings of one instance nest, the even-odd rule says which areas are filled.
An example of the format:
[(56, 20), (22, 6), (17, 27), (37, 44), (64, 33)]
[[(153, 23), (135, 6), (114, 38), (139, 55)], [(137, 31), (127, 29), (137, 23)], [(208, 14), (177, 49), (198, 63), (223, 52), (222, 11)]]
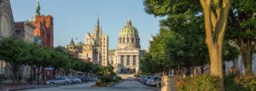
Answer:
[(23, 91), (158, 91), (156, 88), (151, 88), (137, 81), (125, 81), (114, 85), (113, 87), (90, 87), (94, 82), (61, 86), (57, 88), (35, 88)]

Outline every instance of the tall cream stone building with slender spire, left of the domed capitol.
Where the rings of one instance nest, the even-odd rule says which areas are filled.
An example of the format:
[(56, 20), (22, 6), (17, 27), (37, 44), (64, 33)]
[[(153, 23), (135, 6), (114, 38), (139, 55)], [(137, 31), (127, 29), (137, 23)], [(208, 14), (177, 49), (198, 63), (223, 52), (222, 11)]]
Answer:
[(90, 59), (90, 61), (96, 64), (108, 65), (108, 36), (102, 33), (99, 18), (94, 27), (94, 32), (92, 34), (88, 32), (85, 35), (82, 55), (82, 58)]

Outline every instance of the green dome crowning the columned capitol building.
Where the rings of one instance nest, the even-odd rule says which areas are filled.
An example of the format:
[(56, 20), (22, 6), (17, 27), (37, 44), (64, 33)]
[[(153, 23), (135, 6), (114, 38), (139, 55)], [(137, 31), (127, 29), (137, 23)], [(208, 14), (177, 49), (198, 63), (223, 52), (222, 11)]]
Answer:
[(134, 27), (134, 26), (131, 26), (131, 20), (128, 20), (127, 21), (127, 25), (124, 26), (120, 33), (119, 33), (120, 36), (124, 36), (124, 35), (135, 35), (137, 36), (137, 28)]

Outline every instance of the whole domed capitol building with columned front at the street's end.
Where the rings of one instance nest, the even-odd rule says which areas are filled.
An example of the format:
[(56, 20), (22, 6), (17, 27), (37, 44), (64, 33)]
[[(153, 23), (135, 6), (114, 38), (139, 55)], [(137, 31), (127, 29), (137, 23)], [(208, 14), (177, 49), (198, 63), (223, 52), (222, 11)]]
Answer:
[(139, 71), (139, 59), (143, 55), (137, 28), (127, 20), (119, 32), (118, 48), (109, 52), (109, 64), (118, 74), (135, 74)]

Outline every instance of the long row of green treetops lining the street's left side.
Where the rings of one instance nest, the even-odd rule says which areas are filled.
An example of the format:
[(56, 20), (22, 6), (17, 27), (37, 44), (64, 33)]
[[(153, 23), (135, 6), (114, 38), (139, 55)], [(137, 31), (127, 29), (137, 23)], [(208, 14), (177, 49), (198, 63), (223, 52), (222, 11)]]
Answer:
[[(31, 65), (32, 68), (37, 68), (38, 76), (42, 71), (40, 69), (49, 66), (56, 70), (63, 69), (66, 74), (72, 70), (101, 73), (103, 69), (101, 65), (73, 57), (62, 48), (42, 48), (37, 43), (26, 43), (16, 37), (4, 37), (0, 40), (0, 58), (9, 62), (14, 74), (17, 73), (20, 65)], [(110, 73), (113, 76), (112, 70), (113, 68), (108, 67), (108, 71), (111, 72), (103, 73), (106, 75)]]

